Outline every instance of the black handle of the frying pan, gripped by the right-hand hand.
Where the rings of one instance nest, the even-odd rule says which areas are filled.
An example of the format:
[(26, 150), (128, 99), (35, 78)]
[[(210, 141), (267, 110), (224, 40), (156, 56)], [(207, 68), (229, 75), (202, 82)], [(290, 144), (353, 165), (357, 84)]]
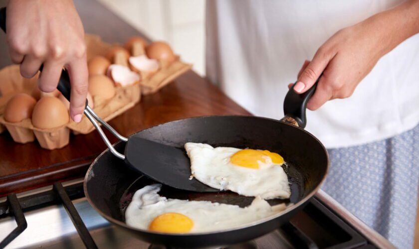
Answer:
[[(323, 74), (320, 75), (322, 77)], [(314, 85), (303, 94), (297, 94), (294, 91), (294, 86), (297, 82), (292, 85), (288, 90), (287, 95), (284, 99), (284, 118), (281, 119), (282, 122), (293, 124), (295, 126), (304, 128), (307, 124), (306, 118), (306, 108), (308, 100), (313, 96), (316, 91), (317, 84), (319, 79), (314, 83)]]

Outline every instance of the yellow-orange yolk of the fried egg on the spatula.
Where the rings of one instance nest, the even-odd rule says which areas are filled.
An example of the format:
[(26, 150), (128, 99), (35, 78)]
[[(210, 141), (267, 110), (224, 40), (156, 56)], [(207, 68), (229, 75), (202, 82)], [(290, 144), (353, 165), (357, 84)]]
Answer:
[(259, 163), (268, 163), (268, 158), (274, 164), (283, 164), (284, 158), (277, 153), (270, 152), (269, 150), (255, 150), (255, 149), (242, 149), (234, 153), (230, 157), (230, 162), (246, 168), (259, 169)]

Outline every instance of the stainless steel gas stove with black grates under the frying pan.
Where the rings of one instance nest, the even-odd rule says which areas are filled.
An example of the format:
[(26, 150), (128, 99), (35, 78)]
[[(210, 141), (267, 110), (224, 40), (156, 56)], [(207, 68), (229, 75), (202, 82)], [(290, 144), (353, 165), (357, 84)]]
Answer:
[[(0, 199), (0, 248), (136, 248), (150, 245), (102, 218), (87, 202), (82, 179)], [(319, 191), (277, 230), (231, 249), (395, 248)]]

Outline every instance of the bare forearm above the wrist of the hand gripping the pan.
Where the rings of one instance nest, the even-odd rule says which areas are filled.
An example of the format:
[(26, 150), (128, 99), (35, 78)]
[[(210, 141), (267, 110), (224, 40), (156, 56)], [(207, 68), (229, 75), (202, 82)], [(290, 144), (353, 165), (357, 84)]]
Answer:
[(383, 56), (419, 33), (419, 0), (408, 0), (371, 16), (359, 25), (364, 25), (367, 32), (377, 36), (377, 52)]

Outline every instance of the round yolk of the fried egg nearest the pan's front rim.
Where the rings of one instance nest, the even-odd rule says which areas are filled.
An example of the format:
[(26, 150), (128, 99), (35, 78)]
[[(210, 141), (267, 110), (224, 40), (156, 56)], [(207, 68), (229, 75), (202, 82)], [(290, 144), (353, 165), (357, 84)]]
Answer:
[(188, 233), (194, 222), (179, 213), (165, 213), (157, 216), (149, 225), (149, 230), (162, 233)]

